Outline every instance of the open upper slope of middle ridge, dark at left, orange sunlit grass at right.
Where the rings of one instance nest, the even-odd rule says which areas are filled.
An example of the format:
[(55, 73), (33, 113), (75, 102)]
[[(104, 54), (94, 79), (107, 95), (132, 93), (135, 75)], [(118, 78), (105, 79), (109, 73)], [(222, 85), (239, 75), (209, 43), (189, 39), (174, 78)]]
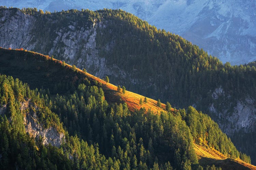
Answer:
[[(35, 52), (24, 50), (7, 50), (0, 49), (0, 73), (11, 75), (30, 85), (31, 88), (55, 89), (59, 83), (79, 82), (81, 79), (88, 79), (92, 84), (100, 85), (104, 91), (105, 98), (110, 103), (126, 102), (130, 111), (144, 107), (146, 110), (151, 109), (160, 113), (166, 107), (162, 104), (162, 108), (157, 107), (156, 100), (147, 98), (147, 103), (140, 105), (140, 99), (144, 100), (144, 96), (135, 94), (126, 90), (125, 94), (117, 91), (117, 86), (106, 83), (100, 78), (95, 77), (82, 70), (72, 68), (59, 60), (42, 55)], [(64, 69), (66, 68), (66, 69)], [(72, 90), (72, 89), (64, 89)], [(58, 91), (63, 91), (59, 90)], [(51, 90), (52, 91), (52, 90)], [(56, 90), (55, 90), (56, 91)], [(174, 109), (171, 109), (174, 111)]]

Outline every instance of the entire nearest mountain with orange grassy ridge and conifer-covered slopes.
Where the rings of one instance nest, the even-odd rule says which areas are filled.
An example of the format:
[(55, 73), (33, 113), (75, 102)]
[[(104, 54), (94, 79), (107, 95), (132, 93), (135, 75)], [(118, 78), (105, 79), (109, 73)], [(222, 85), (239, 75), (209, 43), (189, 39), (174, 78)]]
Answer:
[[(149, 98), (139, 104), (142, 96), (35, 52), (1, 48), (0, 60), (0, 73), (15, 78), (0, 75), (3, 168), (256, 168), (217, 123), (191, 106), (176, 110)], [(42, 126), (40, 132), (65, 133), (61, 145), (43, 143), (42, 134), (35, 138), (27, 117)]]

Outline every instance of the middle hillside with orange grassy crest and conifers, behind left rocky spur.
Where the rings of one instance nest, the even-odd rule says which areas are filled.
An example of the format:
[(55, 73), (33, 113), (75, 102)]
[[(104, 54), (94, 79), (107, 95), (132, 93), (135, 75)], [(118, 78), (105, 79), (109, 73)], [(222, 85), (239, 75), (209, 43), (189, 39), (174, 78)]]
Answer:
[[(140, 107), (138, 99), (142, 96), (129, 91), (126, 91), (125, 94), (120, 94), (120, 92), (117, 91), (117, 87), (111, 83), (106, 83), (85, 71), (75, 68), (75, 66), (67, 65), (54, 58), (34, 52), (0, 49), (0, 62), (2, 64), (0, 67), (1, 74), (8, 74), (14, 78), (19, 78), (28, 83), (30, 88), (41, 88), (38, 96), (41, 96), (47, 107), (58, 114), (60, 121), (63, 122), (64, 129), (66, 129), (69, 134), (77, 135), (86, 140), (89, 144), (93, 143), (93, 141), (98, 142), (99, 151), (106, 157), (112, 154), (118, 154), (120, 161), (118, 167), (121, 169), (125, 166), (136, 166), (134, 162), (132, 163), (132, 161), (134, 161), (132, 152), (135, 158), (137, 157), (136, 161), (137, 159), (140, 160), (141, 165), (138, 165), (141, 166), (140, 168), (143, 166), (153, 167), (154, 162), (154, 166), (160, 166), (167, 160), (169, 160), (170, 166), (172, 167), (179, 167), (181, 169), (187, 169), (190, 165), (195, 167), (198, 166), (195, 153), (197, 153), (199, 157), (202, 157), (202, 155), (198, 154), (198, 150), (200, 152), (202, 152), (202, 150), (206, 150), (206, 152), (210, 150), (217, 152), (218, 150), (222, 152), (222, 154), (219, 153), (219, 155), (225, 155), (225, 158), (239, 158), (243, 156), (244, 160), (250, 162), (250, 157), (239, 153), (230, 139), (221, 132), (216, 123), (208, 116), (198, 113), (192, 107), (188, 108), (187, 111), (184, 109), (179, 111), (171, 109), (170, 112), (167, 113), (163, 109), (157, 108), (156, 101), (148, 98), (147, 103), (144, 103), (142, 106), (157, 112), (146, 111), (144, 109), (138, 111), (137, 108)], [(66, 90), (63, 90), (63, 88)], [(102, 92), (101, 88), (103, 90)], [(37, 92), (35, 92), (35, 94), (37, 94)], [(104, 99), (108, 101), (108, 103), (106, 103)], [(134, 105), (129, 106), (128, 103), (131, 101)], [(122, 102), (123, 104), (118, 105), (118, 103), (115, 104), (114, 102)], [(164, 106), (165, 105), (162, 105), (162, 107)], [(197, 118), (196, 116), (199, 117)], [(186, 123), (182, 119), (184, 119)], [(70, 123), (66, 120), (70, 120)], [(72, 121), (74, 121), (74, 123), (72, 123)], [(104, 123), (102, 123), (102, 121)], [(116, 121), (116, 124), (113, 121)], [(129, 126), (132, 126), (131, 129), (127, 126), (127, 123)], [(201, 128), (194, 129), (195, 125)], [(162, 127), (163, 129), (161, 130), (161, 128), (158, 129), (157, 127)], [(91, 131), (91, 134), (88, 133), (87, 128), (89, 128), (88, 130)], [(103, 134), (101, 134), (101, 128), (103, 129)], [(112, 129), (111, 132), (108, 128), (114, 128), (114, 130)], [(126, 130), (127, 128), (128, 131)], [(118, 129), (120, 129), (122, 133), (118, 133)], [(150, 129), (151, 131), (148, 131)], [(201, 131), (207, 131), (208, 135), (201, 135)], [(127, 132), (130, 132), (130, 135), (128, 135)], [(100, 139), (98, 137), (99, 135), (103, 135), (104, 138)], [(110, 139), (114, 141), (111, 142), (108, 136), (113, 136), (113, 139), (112, 137)], [(110, 141), (106, 140), (104, 144), (105, 138)], [(130, 141), (128, 141), (126, 146), (122, 144), (123, 142), (127, 143), (127, 140)], [(174, 143), (169, 143), (170, 140)], [(194, 148), (193, 140), (200, 145), (196, 145), (195, 150), (191, 150)], [(67, 134), (66, 141), (69, 141)], [(136, 142), (138, 142), (137, 145)], [(205, 142), (208, 144), (205, 144)], [(113, 149), (110, 152), (110, 150), (108, 150), (109, 147), (103, 147), (107, 143), (113, 143), (111, 144), (113, 148), (118, 148), (118, 151), (115, 151), (117, 153), (113, 153)], [(147, 157), (137, 155), (137, 151), (135, 150), (131, 152), (130, 145), (134, 145), (135, 148), (138, 146), (140, 148), (138, 152), (140, 154), (146, 154)], [(207, 150), (205, 146), (208, 145), (213, 146), (215, 149)], [(128, 164), (123, 162), (125, 157), (122, 155), (126, 155), (124, 152), (128, 155), (131, 154), (131, 156), (128, 157), (133, 157), (133, 160), (129, 158), (131, 162), (129, 161)], [(173, 155), (174, 160), (169, 157), (172, 152), (175, 152)], [(184, 154), (182, 160), (180, 160), (181, 158), (179, 158), (177, 154)], [(153, 155), (157, 155), (158, 165)], [(115, 159), (113, 155), (111, 157)], [(211, 156), (209, 157), (209, 155), (207, 155), (207, 157), (212, 158)], [(214, 157), (218, 158), (216, 155), (214, 155)], [(199, 163), (201, 159), (199, 159)], [(79, 160), (82, 161), (82, 157), (79, 157)], [(221, 167), (223, 164), (235, 164), (234, 162), (236, 161), (234, 161), (234, 159), (230, 160), (231, 162), (229, 163), (216, 162), (216, 165), (217, 167)], [(145, 164), (143, 164), (143, 162)], [(69, 163), (70, 162), (67, 164)], [(81, 162), (81, 164), (79, 163), (79, 167), (84, 166), (82, 163), (83, 162)], [(247, 167), (250, 166), (244, 162), (241, 163)], [(164, 166), (168, 167), (168, 164)], [(209, 160), (207, 164), (204, 162), (200, 163), (203, 167), (212, 164), (213, 162)], [(74, 166), (73, 164), (71, 165)], [(163, 168), (166, 169), (165, 167)], [(253, 169), (253, 166), (251, 166), (251, 168)]]

